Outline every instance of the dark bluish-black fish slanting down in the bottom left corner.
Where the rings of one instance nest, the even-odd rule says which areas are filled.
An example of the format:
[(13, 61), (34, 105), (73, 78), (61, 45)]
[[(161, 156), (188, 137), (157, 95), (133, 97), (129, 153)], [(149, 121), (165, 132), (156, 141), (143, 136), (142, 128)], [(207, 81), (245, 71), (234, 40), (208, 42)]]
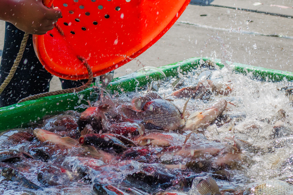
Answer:
[(14, 165), (12, 164), (0, 162), (0, 170), (1, 170), (0, 176), (3, 176), (10, 181), (19, 182), (20, 185), (23, 185), (26, 188), (42, 189), (41, 187), (39, 187), (32, 181), (25, 178), (21, 173), (19, 173), (17, 168), (14, 167)]

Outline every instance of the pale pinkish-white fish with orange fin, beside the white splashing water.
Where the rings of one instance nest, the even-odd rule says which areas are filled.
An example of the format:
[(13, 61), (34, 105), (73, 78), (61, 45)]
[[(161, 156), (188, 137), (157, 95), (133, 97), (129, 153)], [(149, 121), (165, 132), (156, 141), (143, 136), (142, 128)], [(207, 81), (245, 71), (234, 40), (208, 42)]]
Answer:
[(205, 128), (212, 124), (227, 107), (226, 100), (220, 100), (201, 112), (192, 113), (185, 124), (184, 130), (196, 131), (198, 128)]

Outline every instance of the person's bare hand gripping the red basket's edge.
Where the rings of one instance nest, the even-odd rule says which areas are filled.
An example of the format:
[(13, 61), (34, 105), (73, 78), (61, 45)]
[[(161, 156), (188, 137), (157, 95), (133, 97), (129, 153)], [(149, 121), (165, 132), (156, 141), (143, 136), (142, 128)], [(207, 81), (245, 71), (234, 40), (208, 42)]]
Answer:
[[(3, 0), (1, 0), (3, 1)], [(54, 28), (54, 23), (62, 17), (58, 7), (47, 8), (42, 0), (4, 0), (0, 3), (0, 19), (14, 24), (18, 29), (30, 34), (43, 35)], [(1, 17), (4, 14), (4, 17)]]

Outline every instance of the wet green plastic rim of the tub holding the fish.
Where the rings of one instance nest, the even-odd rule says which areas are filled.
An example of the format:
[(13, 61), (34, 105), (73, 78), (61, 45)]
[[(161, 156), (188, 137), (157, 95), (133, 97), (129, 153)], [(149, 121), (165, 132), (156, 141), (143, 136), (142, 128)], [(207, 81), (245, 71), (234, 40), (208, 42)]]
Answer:
[[(211, 60), (209, 58), (190, 58), (182, 62), (169, 64), (159, 67), (167, 77), (175, 77), (178, 75), (178, 71), (187, 73), (196, 68), (203, 61)], [(216, 59), (216, 64), (219, 67), (224, 65), (221, 60)], [(252, 72), (253, 78), (266, 81), (281, 81), (284, 77), (288, 81), (293, 80), (292, 72), (284, 72), (279, 70), (266, 69), (262, 67), (248, 66), (240, 63), (230, 64), (234, 71), (247, 74)], [(135, 72), (129, 75), (118, 77), (114, 79), (108, 87), (108, 90), (112, 93), (121, 93), (126, 91), (139, 90), (141, 87), (146, 86), (152, 80), (162, 79), (163, 76), (159, 71), (147, 71), (147, 72)], [(4, 131), (9, 128), (26, 127), (31, 121), (38, 120), (45, 115), (54, 113), (57, 111), (76, 110), (80, 104), (88, 104), (87, 100), (93, 100), (95, 93), (93, 88), (88, 88), (78, 93), (71, 93), (65, 95), (54, 95), (38, 100), (31, 100), (19, 104), (0, 108), (0, 131)], [(82, 111), (79, 108), (78, 111)]]

